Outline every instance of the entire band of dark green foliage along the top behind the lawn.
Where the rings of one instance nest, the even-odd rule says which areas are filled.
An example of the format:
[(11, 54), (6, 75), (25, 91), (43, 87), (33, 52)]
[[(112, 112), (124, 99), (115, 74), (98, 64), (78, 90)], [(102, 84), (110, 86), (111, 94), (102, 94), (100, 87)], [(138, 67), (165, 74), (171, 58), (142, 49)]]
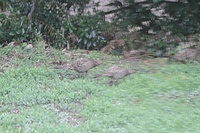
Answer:
[[(197, 0), (135, 2), (114, 1), (108, 6), (117, 9), (88, 15), (84, 12), (90, 0), (2, 0), (0, 2), (0, 44), (13, 40), (30, 41), (42, 37), (54, 47), (66, 47), (67, 37), (78, 38), (72, 48), (99, 49), (106, 38), (102, 36), (104, 15), (115, 14), (117, 29), (140, 27), (142, 33), (165, 31), (181, 34), (199, 32), (199, 2)], [(98, 5), (98, 4), (97, 4)], [(70, 15), (74, 11), (77, 14)], [(102, 15), (104, 14), (104, 15)], [(105, 29), (104, 29), (105, 30)], [(107, 32), (107, 29), (105, 30)]]

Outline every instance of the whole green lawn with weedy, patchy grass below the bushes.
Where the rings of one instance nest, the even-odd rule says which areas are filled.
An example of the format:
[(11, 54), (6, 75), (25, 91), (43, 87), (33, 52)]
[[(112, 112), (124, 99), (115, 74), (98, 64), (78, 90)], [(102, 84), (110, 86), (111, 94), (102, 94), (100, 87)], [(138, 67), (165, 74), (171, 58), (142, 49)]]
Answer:
[(139, 71), (110, 86), (107, 77), (91, 77), (119, 57), (92, 52), (87, 56), (106, 57), (103, 65), (85, 78), (72, 79), (76, 72), (49, 64), (70, 61), (62, 52), (20, 47), (0, 52), (2, 133), (199, 132), (200, 65), (156, 64), (157, 71)]

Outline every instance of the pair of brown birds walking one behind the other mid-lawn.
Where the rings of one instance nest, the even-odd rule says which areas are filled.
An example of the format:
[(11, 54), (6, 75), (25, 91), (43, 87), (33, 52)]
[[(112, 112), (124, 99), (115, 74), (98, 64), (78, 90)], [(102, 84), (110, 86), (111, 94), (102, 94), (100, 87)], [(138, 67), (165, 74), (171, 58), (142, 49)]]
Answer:
[[(71, 70), (75, 70), (79, 73), (84, 73), (84, 72), (87, 73), (90, 69), (92, 69), (100, 64), (102, 64), (102, 61), (92, 60), (92, 59), (88, 59), (88, 58), (80, 58), (78, 60), (75, 60), (71, 64), (56, 66), (55, 68), (56, 69), (71, 69)], [(107, 69), (105, 72), (103, 72), (102, 74), (96, 75), (94, 78), (98, 78), (101, 76), (108, 76), (112, 79), (117, 80), (117, 79), (123, 78), (132, 73), (133, 73), (133, 71), (130, 69), (126, 69), (126, 68), (119, 67), (119, 66), (112, 66), (109, 69)]]

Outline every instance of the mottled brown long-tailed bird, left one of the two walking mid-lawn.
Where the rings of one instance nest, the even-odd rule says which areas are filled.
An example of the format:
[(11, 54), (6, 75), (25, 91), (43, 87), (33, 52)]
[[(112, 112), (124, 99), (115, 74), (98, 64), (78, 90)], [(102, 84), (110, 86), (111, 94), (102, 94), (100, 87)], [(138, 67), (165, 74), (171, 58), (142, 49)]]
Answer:
[(102, 61), (92, 60), (88, 58), (80, 58), (75, 60), (71, 64), (66, 64), (63, 66), (56, 66), (56, 69), (72, 69), (79, 73), (88, 72), (91, 68), (100, 65)]

